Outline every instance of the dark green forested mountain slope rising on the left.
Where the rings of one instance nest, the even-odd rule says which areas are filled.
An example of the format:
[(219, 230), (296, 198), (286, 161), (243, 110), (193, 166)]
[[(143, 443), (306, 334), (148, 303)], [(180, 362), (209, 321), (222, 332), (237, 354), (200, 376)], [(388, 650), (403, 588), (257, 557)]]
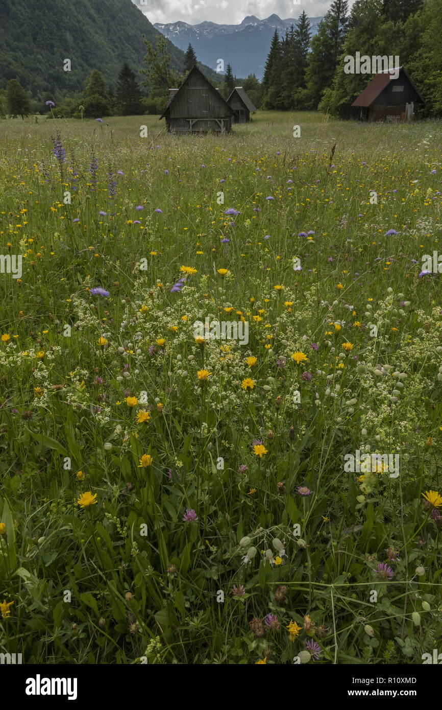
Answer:
[[(131, 0), (0, 0), (0, 89), (18, 79), (34, 98), (65, 96), (81, 92), (93, 69), (115, 87), (123, 62), (142, 78), (143, 35), (155, 43), (160, 33)], [(184, 54), (168, 45), (182, 71)], [(66, 59), (71, 71), (63, 69)]]

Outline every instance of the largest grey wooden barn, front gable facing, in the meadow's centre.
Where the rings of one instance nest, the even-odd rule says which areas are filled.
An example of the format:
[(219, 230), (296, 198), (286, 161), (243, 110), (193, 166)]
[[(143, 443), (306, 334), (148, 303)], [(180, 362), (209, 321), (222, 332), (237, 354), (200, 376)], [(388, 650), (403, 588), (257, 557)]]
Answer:
[(229, 133), (232, 116), (233, 109), (195, 66), (179, 89), (169, 89), (160, 120), (165, 118), (167, 131), (173, 133)]

